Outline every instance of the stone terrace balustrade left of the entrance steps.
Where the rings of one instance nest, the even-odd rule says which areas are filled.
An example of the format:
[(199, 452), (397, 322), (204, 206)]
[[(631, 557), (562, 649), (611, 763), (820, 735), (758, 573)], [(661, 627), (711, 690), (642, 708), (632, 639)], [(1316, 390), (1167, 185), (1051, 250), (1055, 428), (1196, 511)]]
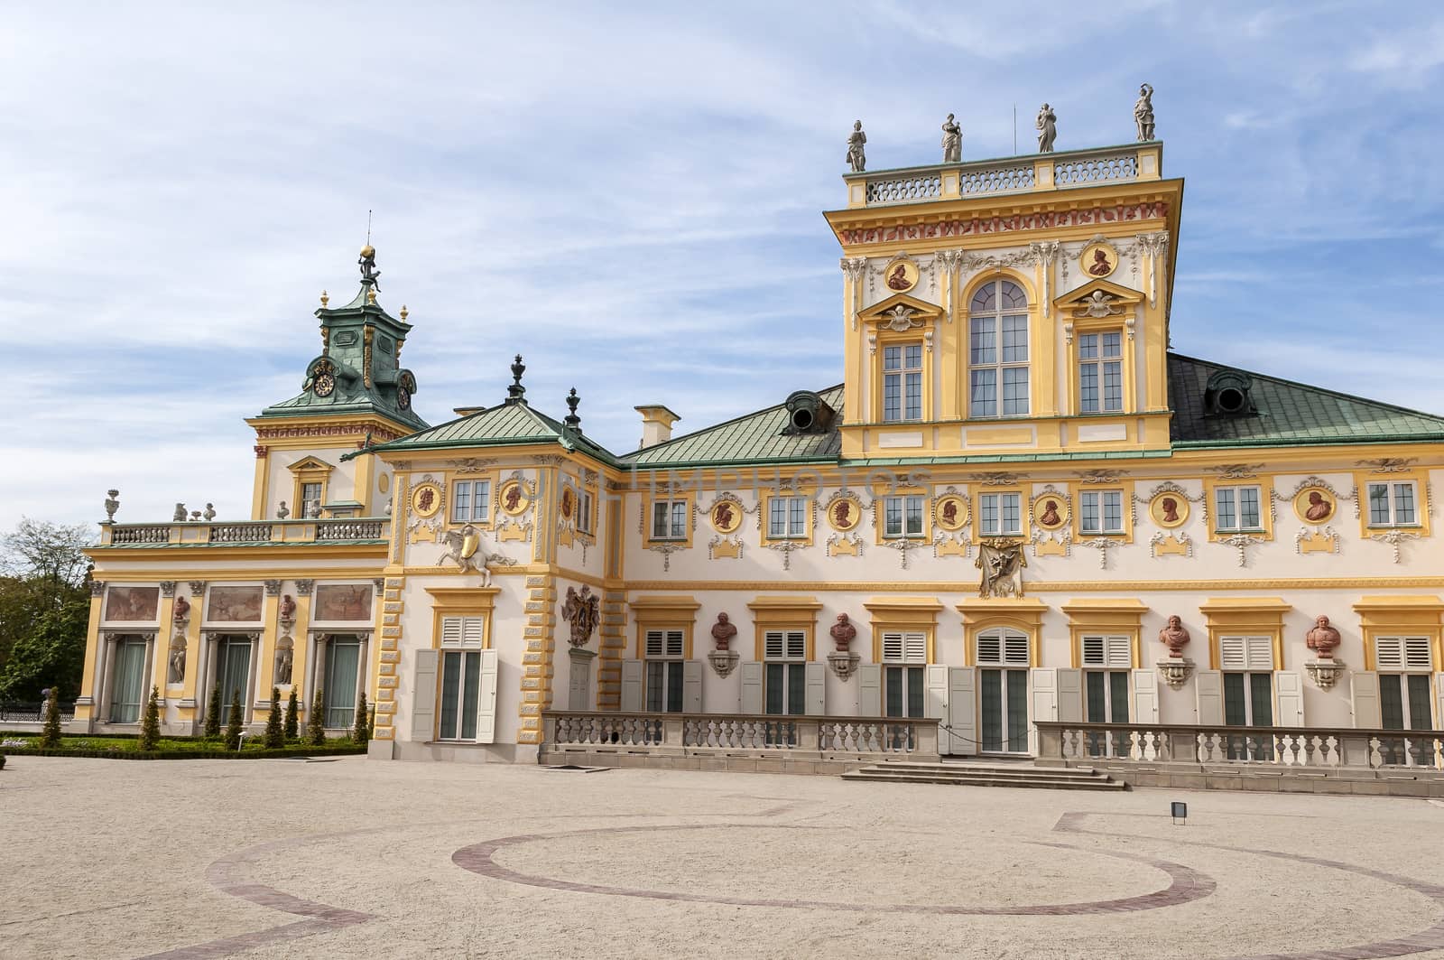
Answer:
[(542, 726), (547, 746), (569, 750), (937, 756), (937, 720), (921, 719), (549, 710)]

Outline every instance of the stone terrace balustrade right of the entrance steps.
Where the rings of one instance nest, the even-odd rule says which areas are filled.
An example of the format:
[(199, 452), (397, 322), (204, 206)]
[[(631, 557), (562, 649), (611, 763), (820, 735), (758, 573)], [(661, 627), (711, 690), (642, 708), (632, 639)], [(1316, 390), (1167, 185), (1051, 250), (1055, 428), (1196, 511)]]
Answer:
[(1038, 763), (1271, 763), (1318, 772), (1444, 771), (1441, 730), (1038, 721)]

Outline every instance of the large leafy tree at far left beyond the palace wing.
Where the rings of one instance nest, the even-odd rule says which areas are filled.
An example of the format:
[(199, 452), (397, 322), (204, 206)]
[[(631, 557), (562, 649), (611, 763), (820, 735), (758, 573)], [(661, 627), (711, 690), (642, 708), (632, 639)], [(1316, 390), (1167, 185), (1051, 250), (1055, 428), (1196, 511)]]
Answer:
[(85, 526), (25, 518), (0, 538), (0, 700), (78, 690), (90, 622)]

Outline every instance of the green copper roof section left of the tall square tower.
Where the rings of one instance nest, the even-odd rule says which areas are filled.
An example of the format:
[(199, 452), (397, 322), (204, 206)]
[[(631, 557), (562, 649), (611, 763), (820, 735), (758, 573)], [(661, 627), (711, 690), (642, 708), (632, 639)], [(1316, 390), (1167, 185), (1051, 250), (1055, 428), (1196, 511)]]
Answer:
[[(842, 419), (842, 386), (819, 390), (819, 396), (836, 411), (833, 424)], [(729, 419), (695, 434), (669, 440), (622, 457), (634, 467), (671, 467), (703, 464), (754, 464), (836, 461), (842, 454), (842, 437), (836, 429), (826, 434), (784, 435), (787, 406), (778, 403), (764, 411)]]

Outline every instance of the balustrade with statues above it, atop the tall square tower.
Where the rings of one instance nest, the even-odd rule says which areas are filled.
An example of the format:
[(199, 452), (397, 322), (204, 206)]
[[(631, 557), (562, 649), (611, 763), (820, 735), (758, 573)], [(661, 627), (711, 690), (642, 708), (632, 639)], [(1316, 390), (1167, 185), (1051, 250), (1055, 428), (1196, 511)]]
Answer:
[(1158, 142), (1093, 150), (1034, 153), (970, 163), (937, 163), (869, 173), (848, 173), (849, 207), (887, 207), (930, 200), (962, 200), (1095, 184), (1160, 179)]

